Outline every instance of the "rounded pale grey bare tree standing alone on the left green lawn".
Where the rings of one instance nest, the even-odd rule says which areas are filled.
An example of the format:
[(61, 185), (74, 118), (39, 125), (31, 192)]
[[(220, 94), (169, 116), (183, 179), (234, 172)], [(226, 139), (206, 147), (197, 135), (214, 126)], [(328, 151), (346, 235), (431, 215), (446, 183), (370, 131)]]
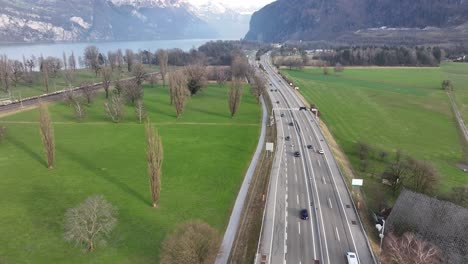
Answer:
[(88, 197), (65, 213), (65, 240), (91, 252), (117, 225), (116, 216), (117, 210), (102, 195)]

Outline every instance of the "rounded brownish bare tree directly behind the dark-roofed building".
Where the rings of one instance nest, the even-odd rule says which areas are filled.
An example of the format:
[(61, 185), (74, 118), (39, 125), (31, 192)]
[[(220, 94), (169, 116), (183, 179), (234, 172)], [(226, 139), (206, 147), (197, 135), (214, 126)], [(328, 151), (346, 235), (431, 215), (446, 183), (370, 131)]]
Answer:
[(438, 187), (439, 175), (436, 168), (428, 161), (409, 158), (408, 179), (405, 186), (413, 191), (432, 194)]

